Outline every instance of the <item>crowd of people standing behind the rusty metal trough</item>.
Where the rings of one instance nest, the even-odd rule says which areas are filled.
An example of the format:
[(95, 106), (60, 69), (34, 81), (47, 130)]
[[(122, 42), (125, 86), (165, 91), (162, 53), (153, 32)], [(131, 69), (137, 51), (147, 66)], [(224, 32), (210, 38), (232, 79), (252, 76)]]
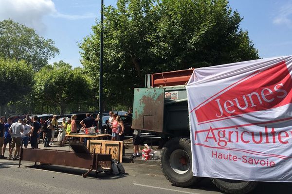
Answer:
[[(126, 115), (132, 116), (131, 110), (129, 110)], [(27, 148), (29, 143), (32, 148), (37, 148), (39, 143), (43, 143), (44, 147), (52, 147), (55, 140), (55, 129), (59, 131), (56, 138), (58, 146), (64, 146), (67, 143), (68, 136), (66, 136), (66, 134), (77, 133), (77, 124), (75, 121), (76, 114), (73, 114), (67, 121), (66, 118), (63, 118), (61, 125), (58, 125), (56, 115), (49, 116), (48, 120), (44, 120), (43, 118), (39, 119), (37, 116), (30, 118), (29, 115), (27, 115), (25, 119), (19, 119), (15, 123), (12, 123), (12, 120), (13, 119), (9, 117), (5, 122), (5, 117), (0, 117), (0, 159), (19, 160), (21, 144), (23, 144), (25, 148)], [(97, 118), (93, 118), (92, 114), (86, 113), (86, 118), (80, 122), (82, 126), (80, 129), (81, 132), (91, 127), (95, 127), (96, 129), (96, 123), (98, 121), (99, 115)], [(123, 156), (125, 156), (124, 122), (119, 115), (112, 111), (110, 111), (110, 118), (106, 124), (106, 130), (107, 134), (111, 135), (112, 141), (123, 141)], [(102, 132), (104, 133), (104, 130), (102, 130)], [(139, 134), (135, 135), (136, 132), (135, 130), (133, 135), (134, 146), (135, 143), (137, 144), (139, 142)], [(40, 141), (41, 134), (42, 141)], [(73, 138), (73, 140), (76, 139)], [(86, 142), (87, 138), (84, 138), (85, 145)], [(8, 157), (5, 157), (7, 145), (9, 146), (9, 154)], [(13, 154), (14, 147), (16, 147), (16, 149)], [(134, 156), (139, 154), (139, 149), (137, 150), (137, 153), (136, 150), (134, 150)]]

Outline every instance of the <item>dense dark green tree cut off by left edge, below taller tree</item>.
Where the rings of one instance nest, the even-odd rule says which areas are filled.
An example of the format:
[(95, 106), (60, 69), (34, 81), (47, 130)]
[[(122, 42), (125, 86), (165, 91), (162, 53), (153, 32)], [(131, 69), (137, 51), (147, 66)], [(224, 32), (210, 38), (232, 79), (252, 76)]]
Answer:
[(25, 61), (0, 57), (1, 115), (8, 102), (20, 100), (31, 91), (33, 76), (32, 66)]

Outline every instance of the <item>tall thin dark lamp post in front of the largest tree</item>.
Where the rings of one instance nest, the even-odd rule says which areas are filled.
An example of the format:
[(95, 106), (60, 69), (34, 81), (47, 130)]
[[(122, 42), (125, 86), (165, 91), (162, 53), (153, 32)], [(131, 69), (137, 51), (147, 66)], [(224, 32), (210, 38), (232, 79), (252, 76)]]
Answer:
[(100, 31), (100, 58), (99, 58), (99, 125), (98, 129), (102, 129), (102, 113), (103, 113), (103, 0), (101, 0), (101, 31)]

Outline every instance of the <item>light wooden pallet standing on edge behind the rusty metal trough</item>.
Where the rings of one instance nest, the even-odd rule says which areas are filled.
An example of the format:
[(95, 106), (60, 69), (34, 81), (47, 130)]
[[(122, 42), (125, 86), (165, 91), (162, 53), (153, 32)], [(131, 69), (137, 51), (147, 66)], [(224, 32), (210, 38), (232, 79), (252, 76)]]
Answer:
[(123, 142), (107, 140), (87, 140), (87, 148), (96, 154), (111, 154), (111, 158), (122, 162)]

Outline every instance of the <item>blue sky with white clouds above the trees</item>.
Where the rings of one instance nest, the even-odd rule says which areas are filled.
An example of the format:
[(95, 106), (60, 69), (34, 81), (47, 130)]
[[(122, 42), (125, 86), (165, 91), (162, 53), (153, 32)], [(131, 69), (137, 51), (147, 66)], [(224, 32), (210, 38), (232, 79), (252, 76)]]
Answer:
[[(117, 0), (104, 0), (115, 5)], [(91, 33), (100, 18), (101, 0), (0, 0), (0, 20), (11, 18), (55, 41), (63, 60), (81, 66), (77, 42)], [(249, 36), (261, 58), (292, 55), (292, 0), (229, 0), (244, 19), (240, 27)]]

